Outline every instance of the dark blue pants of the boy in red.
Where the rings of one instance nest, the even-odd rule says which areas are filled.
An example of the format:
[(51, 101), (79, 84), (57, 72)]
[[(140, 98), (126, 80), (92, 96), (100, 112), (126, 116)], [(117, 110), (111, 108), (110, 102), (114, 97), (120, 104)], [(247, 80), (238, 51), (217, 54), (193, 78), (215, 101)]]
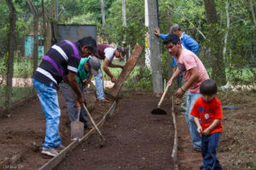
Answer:
[(218, 151), (218, 141), (220, 139), (221, 133), (212, 133), (211, 135), (201, 137), (201, 155), (203, 156), (204, 165), (200, 167), (207, 169), (219, 169), (222, 167), (219, 164), (217, 158)]

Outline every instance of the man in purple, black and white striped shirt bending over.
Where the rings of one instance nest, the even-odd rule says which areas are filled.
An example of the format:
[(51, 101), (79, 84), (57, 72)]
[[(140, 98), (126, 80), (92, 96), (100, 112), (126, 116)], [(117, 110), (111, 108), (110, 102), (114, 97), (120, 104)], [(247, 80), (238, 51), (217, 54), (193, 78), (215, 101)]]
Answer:
[(77, 96), (79, 104), (84, 98), (76, 78), (79, 61), (96, 52), (96, 41), (92, 37), (83, 37), (78, 42), (64, 40), (55, 43), (44, 55), (41, 64), (35, 71), (32, 82), (38, 94), (46, 119), (46, 135), (42, 154), (56, 156), (61, 145), (59, 123), (61, 110), (58, 103), (57, 90), (59, 83), (67, 82)]

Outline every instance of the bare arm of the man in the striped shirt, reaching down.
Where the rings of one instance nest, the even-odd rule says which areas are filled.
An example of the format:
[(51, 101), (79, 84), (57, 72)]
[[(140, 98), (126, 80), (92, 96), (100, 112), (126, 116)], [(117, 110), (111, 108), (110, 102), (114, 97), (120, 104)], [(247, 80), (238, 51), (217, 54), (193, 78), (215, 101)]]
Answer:
[(68, 71), (67, 83), (73, 89), (74, 93), (77, 96), (79, 103), (80, 104), (84, 103), (83, 94), (79, 88), (79, 83), (77, 81), (76, 73), (74, 73), (73, 71)]

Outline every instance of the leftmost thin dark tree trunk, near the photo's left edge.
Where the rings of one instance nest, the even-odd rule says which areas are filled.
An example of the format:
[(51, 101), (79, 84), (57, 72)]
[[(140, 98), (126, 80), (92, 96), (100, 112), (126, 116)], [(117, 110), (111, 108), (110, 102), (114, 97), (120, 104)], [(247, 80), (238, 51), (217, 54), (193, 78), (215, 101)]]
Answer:
[(11, 105), (14, 75), (14, 51), (15, 51), (15, 27), (16, 27), (16, 9), (11, 0), (5, 0), (9, 7), (9, 41), (8, 41), (8, 65), (7, 82), (5, 91), (5, 105), (7, 110)]

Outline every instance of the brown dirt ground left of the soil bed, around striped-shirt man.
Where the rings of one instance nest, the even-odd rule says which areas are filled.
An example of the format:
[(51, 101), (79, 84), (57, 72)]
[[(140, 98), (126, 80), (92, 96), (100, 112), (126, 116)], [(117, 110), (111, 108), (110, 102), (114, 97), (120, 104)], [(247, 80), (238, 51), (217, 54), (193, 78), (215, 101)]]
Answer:
[[(111, 103), (96, 102), (96, 95), (86, 94), (88, 109), (97, 108), (91, 112), (95, 122), (102, 119)], [(70, 126), (67, 116), (65, 99), (59, 91), (59, 104), (61, 108), (60, 133), (62, 144), (70, 144)], [(50, 157), (40, 154), (45, 135), (45, 119), (38, 98), (28, 101), (11, 111), (9, 117), (0, 119), (0, 162), (5, 157), (21, 155), (20, 161), (3, 169), (22, 167), (22, 169), (38, 169), (49, 161)], [(84, 130), (87, 133), (89, 130)], [(1, 167), (0, 167), (1, 169)]]

